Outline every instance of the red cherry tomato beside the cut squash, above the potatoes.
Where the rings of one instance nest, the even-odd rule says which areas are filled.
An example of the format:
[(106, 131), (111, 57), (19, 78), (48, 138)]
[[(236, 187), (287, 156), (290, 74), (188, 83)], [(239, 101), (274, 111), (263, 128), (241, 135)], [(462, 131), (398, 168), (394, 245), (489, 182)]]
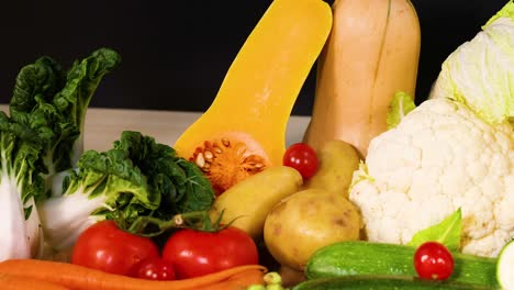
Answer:
[(297, 169), (303, 177), (309, 179), (317, 170), (316, 152), (305, 143), (291, 145), (283, 154), (282, 164)]

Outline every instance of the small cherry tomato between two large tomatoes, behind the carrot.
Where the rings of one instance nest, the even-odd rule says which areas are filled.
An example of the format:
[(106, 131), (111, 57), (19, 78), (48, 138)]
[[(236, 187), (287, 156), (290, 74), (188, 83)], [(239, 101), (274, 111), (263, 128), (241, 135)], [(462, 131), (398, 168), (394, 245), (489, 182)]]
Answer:
[(174, 265), (160, 257), (150, 257), (135, 266), (134, 277), (147, 280), (175, 280)]

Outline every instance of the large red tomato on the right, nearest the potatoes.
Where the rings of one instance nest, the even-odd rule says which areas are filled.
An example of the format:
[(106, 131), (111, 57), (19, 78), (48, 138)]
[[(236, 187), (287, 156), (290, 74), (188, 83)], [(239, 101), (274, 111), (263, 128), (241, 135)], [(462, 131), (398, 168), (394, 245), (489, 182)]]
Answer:
[(254, 239), (233, 226), (215, 233), (180, 230), (166, 242), (163, 258), (174, 264), (178, 279), (259, 261)]

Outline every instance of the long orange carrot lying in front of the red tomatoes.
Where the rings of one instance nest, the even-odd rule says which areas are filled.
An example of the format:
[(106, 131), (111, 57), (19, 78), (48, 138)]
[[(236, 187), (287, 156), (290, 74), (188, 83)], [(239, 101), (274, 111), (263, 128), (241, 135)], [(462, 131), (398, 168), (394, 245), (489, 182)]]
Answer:
[[(260, 274), (257, 274), (257, 271)], [(237, 287), (241, 285), (262, 282), (261, 277), (265, 271), (266, 267), (264, 266), (247, 265), (191, 279), (152, 281), (109, 274), (62, 261), (10, 259), (0, 263), (0, 274), (44, 280), (74, 290), (191, 290), (210, 289), (208, 287), (215, 287), (216, 283), (221, 285), (223, 282), (228, 285), (230, 281), (233, 281), (233, 283), (226, 286), (228, 288), (212, 288), (212, 290), (235, 290), (241, 289), (242, 287)], [(260, 281), (257, 277), (258, 275), (260, 275)], [(247, 280), (247, 282), (245, 282), (245, 280)]]

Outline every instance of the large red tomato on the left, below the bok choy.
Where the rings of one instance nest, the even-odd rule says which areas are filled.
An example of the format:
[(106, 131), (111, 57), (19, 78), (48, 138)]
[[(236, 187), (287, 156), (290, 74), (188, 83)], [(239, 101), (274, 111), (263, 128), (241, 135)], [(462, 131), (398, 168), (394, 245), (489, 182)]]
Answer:
[(134, 265), (158, 256), (159, 249), (152, 239), (127, 233), (113, 221), (101, 221), (79, 236), (74, 246), (71, 263), (128, 276)]

